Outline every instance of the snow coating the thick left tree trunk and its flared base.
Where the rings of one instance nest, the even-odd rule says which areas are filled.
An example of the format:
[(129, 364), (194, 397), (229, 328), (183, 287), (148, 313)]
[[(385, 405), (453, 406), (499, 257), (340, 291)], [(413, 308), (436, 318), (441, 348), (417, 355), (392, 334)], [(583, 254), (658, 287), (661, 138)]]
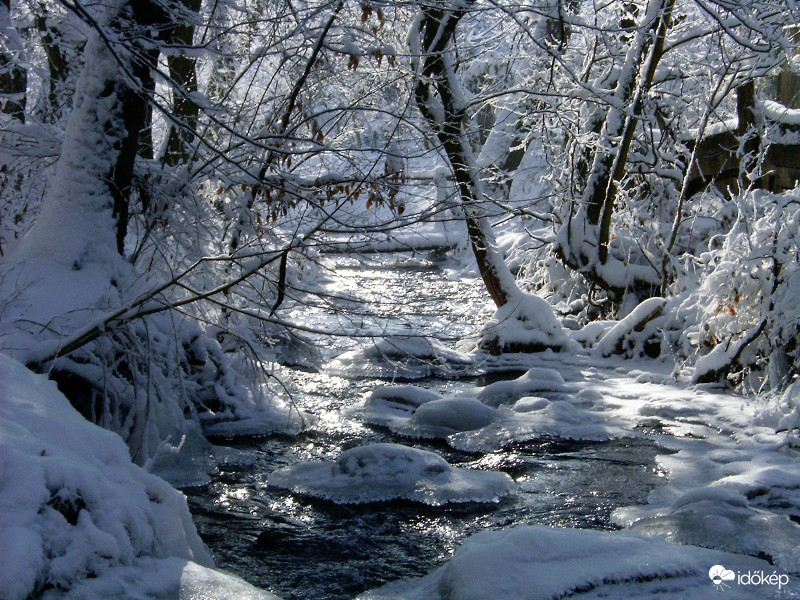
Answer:
[(117, 251), (111, 189), (127, 137), (121, 101), (126, 90), (119, 65), (96, 33), (77, 87), (42, 211), (3, 265), (2, 297), (16, 309), (6, 307), (3, 329), (25, 332), (4, 345), (27, 362), (47, 351), (40, 342), (57, 344), (58, 336), (87, 320), (88, 311), (119, 304), (131, 275)]

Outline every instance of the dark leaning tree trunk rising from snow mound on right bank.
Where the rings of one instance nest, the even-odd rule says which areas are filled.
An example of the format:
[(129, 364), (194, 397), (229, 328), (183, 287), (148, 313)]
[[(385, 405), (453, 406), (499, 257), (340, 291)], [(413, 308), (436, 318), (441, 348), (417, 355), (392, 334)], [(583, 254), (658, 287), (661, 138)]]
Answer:
[[(470, 4), (469, 2), (466, 4)], [(497, 250), (488, 219), (483, 215), (486, 201), (476, 172), (472, 148), (464, 133), (464, 107), (457, 85), (449, 45), (466, 8), (447, 10), (423, 8), (419, 44), (412, 42), (412, 56), (419, 57), (414, 96), (420, 112), (436, 132), (450, 162), (464, 209), (470, 246), (486, 290), (501, 307), (520, 291), (503, 257)], [(414, 47), (419, 45), (419, 47)]]

